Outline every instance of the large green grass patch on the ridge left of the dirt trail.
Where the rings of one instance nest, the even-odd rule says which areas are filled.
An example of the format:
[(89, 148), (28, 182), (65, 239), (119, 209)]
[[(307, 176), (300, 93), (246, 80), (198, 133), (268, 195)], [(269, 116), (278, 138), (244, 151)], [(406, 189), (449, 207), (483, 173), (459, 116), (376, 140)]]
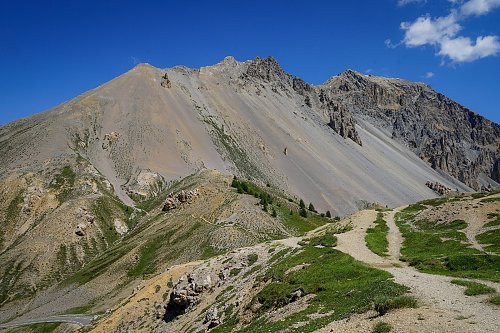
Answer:
[[(240, 332), (276, 332), (298, 322), (307, 322), (301, 327), (301, 332), (312, 332), (332, 320), (370, 310), (379, 297), (397, 299), (408, 290), (394, 283), (389, 273), (371, 268), (331, 247), (317, 248), (307, 245), (301, 251), (280, 258), (281, 260), (265, 273), (265, 287), (254, 300), (262, 305), (257, 314), (258, 318), (242, 327)], [(285, 274), (290, 268), (304, 262), (309, 266)], [(306, 309), (278, 322), (268, 322), (261, 316), (267, 311), (288, 304), (290, 293), (296, 290), (302, 290), (305, 295), (315, 295)], [(321, 318), (308, 317), (312, 313), (324, 314), (330, 311), (333, 311), (333, 314)], [(232, 329), (234, 327), (220, 332), (230, 332)]]

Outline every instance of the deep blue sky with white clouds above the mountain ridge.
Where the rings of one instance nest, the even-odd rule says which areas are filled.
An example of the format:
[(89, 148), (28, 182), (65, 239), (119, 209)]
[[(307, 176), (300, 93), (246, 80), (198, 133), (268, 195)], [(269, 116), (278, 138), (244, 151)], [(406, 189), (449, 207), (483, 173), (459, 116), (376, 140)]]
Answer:
[(274, 56), (321, 83), (347, 68), (430, 84), (500, 123), (500, 0), (0, 2), (0, 124), (137, 62)]

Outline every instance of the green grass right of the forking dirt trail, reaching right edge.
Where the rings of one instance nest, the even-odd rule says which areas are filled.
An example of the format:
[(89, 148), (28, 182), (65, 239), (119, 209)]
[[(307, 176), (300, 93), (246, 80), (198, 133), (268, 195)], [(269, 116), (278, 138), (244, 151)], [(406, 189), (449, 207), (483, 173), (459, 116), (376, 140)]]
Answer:
[(470, 248), (461, 231), (467, 226), (464, 221), (414, 221), (420, 211), (415, 206), (396, 215), (405, 238), (402, 260), (426, 273), (500, 281), (500, 257)]

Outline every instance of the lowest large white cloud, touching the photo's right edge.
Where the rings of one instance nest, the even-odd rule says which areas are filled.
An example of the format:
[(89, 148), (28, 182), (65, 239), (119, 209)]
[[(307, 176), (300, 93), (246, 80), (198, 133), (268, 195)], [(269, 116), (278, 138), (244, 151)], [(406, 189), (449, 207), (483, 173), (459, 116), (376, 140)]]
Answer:
[(471, 62), (499, 52), (500, 42), (497, 36), (480, 36), (475, 42), (469, 37), (444, 39), (438, 54), (455, 62)]

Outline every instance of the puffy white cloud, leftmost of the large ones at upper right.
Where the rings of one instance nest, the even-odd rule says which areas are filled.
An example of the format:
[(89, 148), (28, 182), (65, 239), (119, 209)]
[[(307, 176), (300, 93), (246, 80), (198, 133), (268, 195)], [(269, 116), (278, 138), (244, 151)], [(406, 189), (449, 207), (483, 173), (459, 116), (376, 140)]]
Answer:
[(401, 23), (405, 31), (404, 44), (408, 47), (439, 43), (445, 37), (455, 36), (461, 29), (455, 14), (432, 19), (429, 16), (417, 18), (414, 22)]

